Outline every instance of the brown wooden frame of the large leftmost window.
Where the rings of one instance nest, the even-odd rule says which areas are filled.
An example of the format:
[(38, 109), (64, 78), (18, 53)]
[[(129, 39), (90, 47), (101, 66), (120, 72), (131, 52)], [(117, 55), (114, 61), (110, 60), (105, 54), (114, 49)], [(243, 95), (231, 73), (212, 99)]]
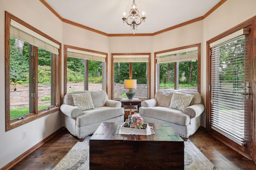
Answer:
[[(50, 113), (56, 112), (60, 110), (60, 104), (61, 104), (61, 53), (59, 53), (56, 61), (53, 61), (52, 63), (55, 65), (52, 66), (54, 68), (52, 70), (52, 80), (55, 80), (52, 82), (52, 94), (56, 94), (56, 96), (53, 97), (52, 100), (54, 100), (54, 104), (56, 104), (56, 107), (50, 108), (48, 110), (40, 110), (38, 111), (37, 106), (37, 99), (32, 102), (33, 104), (30, 105), (30, 108), (32, 108), (33, 112), (26, 115), (25, 119), (17, 120), (10, 119), (10, 21), (15, 20), (18, 23), (24, 25), (28, 29), (31, 29), (32, 31), (42, 35), (43, 37), (46, 37), (50, 41), (58, 44), (60, 46), (59, 52), (61, 51), (61, 43), (56, 41), (55, 39), (51, 38), (50, 36), (46, 35), (45, 33), (39, 31), (35, 27), (32, 27), (28, 23), (20, 20), (16, 16), (10, 14), (9, 12), (5, 12), (5, 115), (6, 115), (6, 131), (9, 131), (11, 129), (14, 129), (16, 127), (19, 127), (21, 125), (24, 125), (26, 123), (29, 123), (31, 121), (34, 121), (40, 117), (43, 117), (45, 115), (48, 115)], [(37, 47), (32, 47), (32, 49), (37, 52)], [(37, 53), (36, 53), (37, 55)], [(54, 54), (52, 54), (54, 55)], [(56, 56), (55, 56), (56, 58)], [(32, 60), (33, 63), (37, 63), (37, 60)], [(31, 64), (30, 64), (31, 65)], [(33, 65), (33, 64), (32, 64)], [(37, 68), (31, 67), (30, 69), (33, 69), (34, 74), (37, 74)], [(58, 74), (57, 74), (58, 73)], [(37, 76), (35, 76), (34, 82), (37, 82)], [(37, 83), (36, 86), (32, 87), (33, 91), (36, 92), (36, 96), (38, 93), (37, 90)]]

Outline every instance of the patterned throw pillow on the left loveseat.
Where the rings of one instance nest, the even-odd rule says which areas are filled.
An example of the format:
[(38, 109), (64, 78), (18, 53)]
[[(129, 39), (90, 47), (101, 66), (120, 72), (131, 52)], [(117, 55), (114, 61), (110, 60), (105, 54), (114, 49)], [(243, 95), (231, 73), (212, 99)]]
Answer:
[(91, 93), (74, 93), (72, 94), (74, 105), (80, 108), (82, 111), (94, 109), (94, 105), (92, 103)]

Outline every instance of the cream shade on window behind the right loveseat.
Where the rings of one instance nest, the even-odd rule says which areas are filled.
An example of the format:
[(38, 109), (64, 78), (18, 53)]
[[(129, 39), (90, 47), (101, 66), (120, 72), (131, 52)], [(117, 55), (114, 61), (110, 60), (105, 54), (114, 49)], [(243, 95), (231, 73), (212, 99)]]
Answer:
[(197, 60), (197, 59), (198, 59), (198, 47), (191, 47), (191, 48), (156, 54), (156, 63), (172, 63), (172, 62), (178, 62), (178, 61), (191, 61), (191, 60)]

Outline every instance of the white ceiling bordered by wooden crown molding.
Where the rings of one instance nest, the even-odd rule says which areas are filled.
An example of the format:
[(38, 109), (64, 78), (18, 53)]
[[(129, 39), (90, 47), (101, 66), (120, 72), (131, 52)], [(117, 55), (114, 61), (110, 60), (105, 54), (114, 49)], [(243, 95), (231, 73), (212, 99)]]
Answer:
[[(204, 16), (221, 0), (135, 0), (140, 16), (146, 21), (135, 33), (156, 33), (163, 29)], [(122, 22), (123, 13), (132, 0), (45, 0), (63, 19), (82, 24), (107, 34), (130, 34)]]

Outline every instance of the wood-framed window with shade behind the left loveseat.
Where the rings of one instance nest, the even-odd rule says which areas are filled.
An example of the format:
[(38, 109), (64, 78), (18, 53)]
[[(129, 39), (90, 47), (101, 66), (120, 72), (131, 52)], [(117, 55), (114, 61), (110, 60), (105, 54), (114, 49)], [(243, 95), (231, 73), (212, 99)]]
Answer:
[(64, 45), (65, 93), (106, 90), (107, 53)]

